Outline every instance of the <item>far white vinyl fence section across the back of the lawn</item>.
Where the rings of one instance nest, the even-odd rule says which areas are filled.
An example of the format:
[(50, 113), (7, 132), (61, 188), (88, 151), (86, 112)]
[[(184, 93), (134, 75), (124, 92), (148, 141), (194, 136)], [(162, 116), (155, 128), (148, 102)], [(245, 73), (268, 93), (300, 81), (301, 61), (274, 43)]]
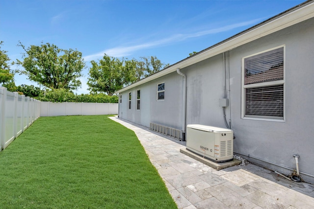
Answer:
[(118, 103), (41, 102), (40, 116), (117, 115)]

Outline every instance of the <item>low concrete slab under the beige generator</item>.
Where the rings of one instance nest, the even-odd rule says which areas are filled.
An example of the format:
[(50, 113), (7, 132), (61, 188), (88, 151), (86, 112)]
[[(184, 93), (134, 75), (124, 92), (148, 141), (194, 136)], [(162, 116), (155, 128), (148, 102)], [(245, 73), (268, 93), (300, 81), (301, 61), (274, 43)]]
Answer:
[(188, 157), (193, 158), (194, 160), (197, 160), (201, 163), (204, 163), (204, 164), (208, 165), (209, 167), (212, 167), (216, 170), (221, 170), (221, 169), (224, 169), (227, 167), (232, 167), (232, 166), (235, 166), (235, 165), (238, 165), (241, 163), (241, 161), (236, 160), (236, 159), (234, 159), (233, 161), (225, 162), (225, 163), (215, 163), (215, 162), (209, 161), (206, 158), (202, 158), (201, 156), (196, 155), (196, 154), (194, 154), (194, 153), (192, 153), (192, 152), (190, 152), (184, 148), (180, 149), (180, 152), (183, 153), (184, 155), (187, 155)]

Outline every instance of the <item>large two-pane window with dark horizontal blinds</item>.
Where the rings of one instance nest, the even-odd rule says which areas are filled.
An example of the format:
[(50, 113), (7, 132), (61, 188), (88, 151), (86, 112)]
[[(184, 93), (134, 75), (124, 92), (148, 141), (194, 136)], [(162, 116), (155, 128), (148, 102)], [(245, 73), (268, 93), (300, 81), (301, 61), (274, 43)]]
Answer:
[(284, 71), (284, 46), (242, 59), (242, 116), (284, 119)]

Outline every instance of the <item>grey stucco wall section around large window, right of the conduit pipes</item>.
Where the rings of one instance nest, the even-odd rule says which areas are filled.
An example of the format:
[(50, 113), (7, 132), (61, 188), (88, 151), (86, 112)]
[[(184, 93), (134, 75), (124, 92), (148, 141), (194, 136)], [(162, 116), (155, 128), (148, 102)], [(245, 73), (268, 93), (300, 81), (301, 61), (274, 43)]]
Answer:
[[(300, 171), (314, 175), (313, 35), (312, 18), (230, 51), (230, 100), (232, 129), (236, 137), (235, 152), (288, 168), (295, 168), (292, 155), (299, 154)], [(241, 58), (282, 45), (285, 45), (285, 121), (242, 119)], [(254, 161), (252, 158), (249, 160)], [(273, 164), (267, 167), (284, 174), (290, 173)]]

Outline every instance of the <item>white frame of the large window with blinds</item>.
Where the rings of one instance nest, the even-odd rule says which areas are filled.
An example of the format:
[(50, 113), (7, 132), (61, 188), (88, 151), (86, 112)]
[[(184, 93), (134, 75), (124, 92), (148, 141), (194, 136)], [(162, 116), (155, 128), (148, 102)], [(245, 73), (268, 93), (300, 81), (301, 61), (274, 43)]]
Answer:
[[(259, 55), (259, 54), (263, 54), (265, 52), (268, 52), (268, 51), (272, 51), (272, 50), (275, 50), (275, 49), (278, 49), (278, 48), (283, 48), (283, 51), (284, 51), (284, 66), (283, 66), (283, 70), (284, 70), (284, 75), (283, 75), (283, 79), (282, 80), (275, 80), (275, 81), (264, 81), (264, 82), (260, 82), (260, 83), (252, 83), (252, 84), (244, 84), (244, 79), (245, 79), (245, 69), (244, 69), (244, 64), (245, 64), (245, 59), (246, 58), (249, 58), (249, 57), (252, 57), (252, 56), (255, 56), (255, 55)], [(242, 57), (242, 60), (241, 60), (241, 78), (242, 78), (242, 81), (241, 81), (241, 88), (242, 88), (242, 91), (241, 91), (241, 118), (242, 119), (253, 119), (253, 120), (267, 120), (267, 121), (278, 121), (278, 122), (285, 122), (285, 118), (286, 118), (286, 87), (285, 87), (285, 84), (286, 84), (286, 46), (285, 45), (282, 45), (282, 46), (277, 46), (277, 47), (274, 47), (274, 48), (270, 48), (270, 49), (267, 49), (267, 50), (264, 50), (262, 52), (258, 52), (258, 53), (255, 53), (255, 54), (252, 54), (252, 55), (249, 55), (249, 56), (245, 56), (245, 57)], [(246, 94), (245, 94), (245, 90), (246, 89), (253, 89), (253, 88), (256, 88), (256, 87), (270, 87), (270, 86), (279, 86), (279, 85), (283, 85), (283, 116), (281, 117), (277, 117), (277, 116), (252, 116), (252, 115), (249, 115), (249, 116), (246, 116), (245, 115), (245, 99), (246, 99)]]

